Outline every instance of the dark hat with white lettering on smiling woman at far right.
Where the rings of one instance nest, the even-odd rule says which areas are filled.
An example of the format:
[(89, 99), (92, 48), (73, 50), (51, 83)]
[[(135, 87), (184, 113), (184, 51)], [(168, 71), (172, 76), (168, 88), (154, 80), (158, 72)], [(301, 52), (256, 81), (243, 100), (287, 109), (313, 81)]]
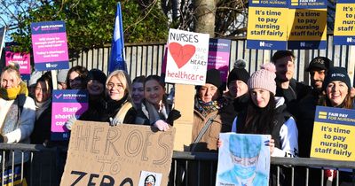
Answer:
[(348, 86), (348, 89), (351, 89), (351, 81), (348, 75), (348, 71), (344, 67), (331, 67), (329, 69), (323, 82), (323, 89), (326, 89), (327, 85), (331, 81), (343, 81), (346, 86)]

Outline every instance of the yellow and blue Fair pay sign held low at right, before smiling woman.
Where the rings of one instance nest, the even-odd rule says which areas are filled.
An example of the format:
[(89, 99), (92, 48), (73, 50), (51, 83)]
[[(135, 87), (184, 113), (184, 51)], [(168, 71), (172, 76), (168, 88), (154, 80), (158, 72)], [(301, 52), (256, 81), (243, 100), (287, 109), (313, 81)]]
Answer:
[(311, 157), (355, 160), (355, 110), (317, 106)]

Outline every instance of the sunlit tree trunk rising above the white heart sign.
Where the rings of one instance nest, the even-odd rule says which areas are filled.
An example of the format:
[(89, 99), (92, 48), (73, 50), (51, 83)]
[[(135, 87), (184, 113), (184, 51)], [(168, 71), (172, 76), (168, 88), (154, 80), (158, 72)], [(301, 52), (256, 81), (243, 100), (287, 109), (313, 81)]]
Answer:
[(194, 0), (195, 21), (194, 32), (209, 34), (215, 37), (217, 0)]

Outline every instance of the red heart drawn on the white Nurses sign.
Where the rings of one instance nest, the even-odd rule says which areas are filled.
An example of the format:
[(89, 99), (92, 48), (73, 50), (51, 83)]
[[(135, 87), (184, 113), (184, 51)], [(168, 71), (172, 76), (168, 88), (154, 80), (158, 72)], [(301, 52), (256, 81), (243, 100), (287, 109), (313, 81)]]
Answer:
[(185, 66), (190, 58), (193, 58), (196, 48), (192, 44), (185, 44), (182, 46), (180, 43), (170, 43), (169, 51), (172, 58), (174, 58), (177, 67), (181, 68)]

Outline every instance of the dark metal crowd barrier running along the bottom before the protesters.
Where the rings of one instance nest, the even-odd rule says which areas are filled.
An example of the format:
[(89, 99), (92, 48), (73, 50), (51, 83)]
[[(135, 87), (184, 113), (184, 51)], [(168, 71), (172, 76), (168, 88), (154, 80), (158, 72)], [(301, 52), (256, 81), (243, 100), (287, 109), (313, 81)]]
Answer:
[[(12, 154), (13, 151), (21, 151), (22, 162), (20, 179), (26, 178), (29, 186), (56, 186), (60, 182), (60, 174), (62, 167), (64, 167), (64, 162), (59, 161), (59, 153), (66, 152), (59, 148), (45, 148), (43, 145), (36, 144), (7, 144), (0, 143), (0, 151), (2, 154), (2, 162), (4, 162), (4, 156), (6, 153)], [(30, 159), (25, 162), (23, 159), (24, 153), (30, 152)], [(217, 153), (204, 153), (204, 152), (186, 152), (186, 151), (174, 151), (173, 153), (173, 163), (170, 171), (170, 183), (169, 186), (208, 186), (201, 184), (201, 180), (209, 179), (209, 185), (215, 185), (214, 178), (216, 174), (214, 170), (217, 168)], [(49, 164), (44, 164), (44, 161)], [(214, 175), (209, 178), (201, 177), (201, 173), (205, 172), (206, 169), (199, 168), (202, 164), (209, 164), (209, 172)], [(311, 184), (310, 181), (314, 179), (319, 179), (319, 185), (326, 185), (325, 175), (323, 171), (319, 170), (319, 178), (311, 177), (310, 170), (314, 170), (312, 167), (319, 167), (321, 169), (326, 169), (333, 167), (336, 170), (340, 168), (352, 169), (352, 177), (354, 177), (355, 162), (354, 161), (335, 161), (326, 159), (302, 159), (302, 158), (274, 158), (272, 157), (271, 163), (273, 167), (277, 168), (277, 181), (280, 181), (280, 170), (288, 168), (290, 170), (290, 176), (288, 177), (291, 186), (316, 186)], [(189, 165), (197, 165), (198, 169), (196, 172), (191, 172)], [(12, 170), (15, 165), (12, 162)], [(296, 176), (299, 173), (300, 168), (304, 167), (304, 175)], [(7, 167), (10, 168), (10, 167)], [(2, 165), (1, 173), (4, 173), (4, 164)], [(190, 171), (190, 172), (189, 172)], [(193, 177), (191, 176), (193, 175)], [(2, 183), (4, 185), (4, 174), (1, 176)], [(334, 181), (335, 185), (339, 185), (339, 173)], [(190, 184), (191, 180), (196, 180), (196, 184)], [(303, 180), (300, 180), (303, 179)], [(352, 185), (355, 182), (352, 181)]]

